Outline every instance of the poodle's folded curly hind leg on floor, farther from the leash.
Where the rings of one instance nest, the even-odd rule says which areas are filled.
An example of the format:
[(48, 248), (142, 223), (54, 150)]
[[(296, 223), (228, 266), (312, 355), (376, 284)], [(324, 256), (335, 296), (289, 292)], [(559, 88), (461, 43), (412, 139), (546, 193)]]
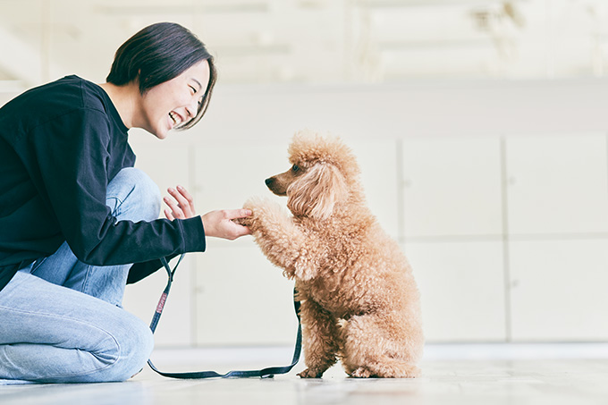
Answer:
[(368, 314), (352, 316), (342, 327), (342, 366), (353, 377), (411, 378), (420, 375), (422, 333), (403, 319)]

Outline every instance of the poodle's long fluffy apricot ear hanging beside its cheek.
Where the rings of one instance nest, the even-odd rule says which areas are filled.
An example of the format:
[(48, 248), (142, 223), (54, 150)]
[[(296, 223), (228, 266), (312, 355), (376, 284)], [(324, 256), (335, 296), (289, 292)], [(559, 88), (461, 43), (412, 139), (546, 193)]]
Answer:
[(293, 215), (325, 220), (348, 193), (344, 176), (334, 165), (318, 164), (291, 183), (287, 189), (287, 207)]

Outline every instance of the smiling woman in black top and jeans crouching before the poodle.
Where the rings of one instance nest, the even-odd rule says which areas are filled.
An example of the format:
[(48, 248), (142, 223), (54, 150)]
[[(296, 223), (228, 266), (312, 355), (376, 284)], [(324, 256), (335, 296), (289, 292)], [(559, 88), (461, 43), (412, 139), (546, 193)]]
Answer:
[(209, 103), (213, 57), (189, 30), (149, 26), (116, 52), (107, 82), (76, 76), (0, 108), (0, 379), (123, 381), (153, 346), (121, 308), (126, 283), (160, 257), (204, 251), (206, 236), (249, 234), (232, 219), (198, 216), (187, 190), (160, 194), (134, 169), (127, 131), (159, 139), (190, 128)]

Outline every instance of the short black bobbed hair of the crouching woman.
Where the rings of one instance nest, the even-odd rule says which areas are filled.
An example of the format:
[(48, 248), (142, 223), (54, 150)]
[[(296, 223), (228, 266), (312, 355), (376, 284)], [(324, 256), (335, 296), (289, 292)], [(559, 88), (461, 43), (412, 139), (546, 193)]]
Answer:
[(190, 30), (174, 22), (158, 22), (140, 30), (118, 48), (106, 81), (123, 86), (138, 80), (139, 93), (172, 80), (200, 61), (209, 63), (209, 83), (196, 116), (175, 127), (193, 127), (207, 111), (217, 81), (214, 58)]

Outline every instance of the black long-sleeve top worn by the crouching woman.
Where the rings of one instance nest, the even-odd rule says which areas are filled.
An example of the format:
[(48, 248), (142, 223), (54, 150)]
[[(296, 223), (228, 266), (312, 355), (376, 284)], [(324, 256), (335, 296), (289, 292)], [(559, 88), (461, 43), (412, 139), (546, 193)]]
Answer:
[(134, 263), (129, 283), (160, 257), (205, 250), (199, 216), (133, 223), (106, 207), (109, 181), (135, 164), (127, 131), (104, 89), (76, 76), (0, 108), (0, 290), (66, 240), (89, 265)]

